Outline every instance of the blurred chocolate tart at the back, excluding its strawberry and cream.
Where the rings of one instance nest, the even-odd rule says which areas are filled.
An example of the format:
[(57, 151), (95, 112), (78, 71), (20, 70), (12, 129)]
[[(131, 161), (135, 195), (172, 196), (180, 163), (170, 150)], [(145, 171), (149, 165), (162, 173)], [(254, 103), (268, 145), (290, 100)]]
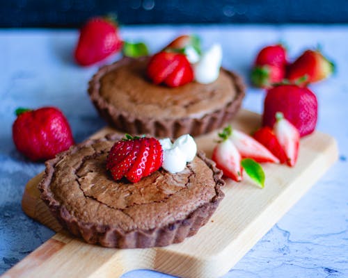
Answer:
[(116, 129), (170, 138), (198, 136), (221, 127), (239, 111), (245, 88), (237, 74), (221, 68), (213, 83), (168, 88), (145, 76), (148, 59), (122, 58), (101, 67), (90, 80), (90, 99)]

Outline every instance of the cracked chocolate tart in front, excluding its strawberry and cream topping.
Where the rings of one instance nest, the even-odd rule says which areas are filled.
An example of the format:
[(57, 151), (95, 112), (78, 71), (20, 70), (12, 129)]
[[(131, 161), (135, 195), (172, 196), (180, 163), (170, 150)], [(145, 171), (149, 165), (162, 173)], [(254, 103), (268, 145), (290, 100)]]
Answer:
[(42, 200), (72, 234), (105, 247), (143, 248), (193, 236), (223, 198), (222, 172), (198, 152), (185, 170), (159, 169), (138, 183), (113, 181), (106, 156), (120, 140), (87, 140), (46, 162)]

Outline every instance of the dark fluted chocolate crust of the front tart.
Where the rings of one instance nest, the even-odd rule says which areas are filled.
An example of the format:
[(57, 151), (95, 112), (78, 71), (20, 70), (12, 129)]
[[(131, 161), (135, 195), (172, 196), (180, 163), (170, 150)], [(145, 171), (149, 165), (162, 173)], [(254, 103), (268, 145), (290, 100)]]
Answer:
[[(115, 219), (117, 219), (117, 213), (120, 208), (111, 209), (113, 206), (107, 202), (100, 202), (95, 198), (99, 198), (102, 195), (88, 195), (88, 191), (81, 189), (81, 192), (74, 193), (74, 190), (71, 193), (68, 193), (67, 199), (74, 198), (74, 195), (83, 194), (86, 201), (90, 202), (100, 202), (98, 204), (98, 208), (106, 208), (109, 213), (111, 211), (112, 215), (111, 219), (113, 220), (100, 220), (94, 219), (86, 221), (86, 217), (84, 216), (84, 209), (82, 211), (74, 211), (71, 204), (73, 204), (74, 199), (70, 200), (71, 202), (65, 202), (65, 199), (61, 199), (60, 195), (57, 195), (54, 192), (54, 179), (58, 179), (59, 182), (70, 184), (75, 181), (68, 180), (67, 177), (61, 179), (58, 174), (58, 170), (61, 163), (65, 163), (64, 161), (69, 161), (67, 165), (64, 165), (64, 169), (69, 172), (71, 168), (74, 168), (76, 171), (84, 171), (81, 170), (81, 165), (89, 163), (90, 160), (98, 158), (100, 155), (107, 155), (109, 151), (102, 147), (105, 142), (108, 142), (109, 145), (112, 145), (113, 142), (120, 140), (120, 136), (113, 134), (106, 136), (105, 138), (101, 138), (98, 140), (87, 140), (79, 145), (75, 145), (70, 147), (70, 149), (66, 152), (58, 154), (56, 158), (49, 160), (46, 162), (46, 170), (45, 176), (42, 178), (42, 181), (39, 183), (38, 188), (41, 192), (42, 200), (49, 206), (49, 209), (52, 211), (54, 216), (61, 222), (63, 227), (67, 228), (74, 236), (79, 236), (84, 238), (87, 243), (91, 244), (100, 244), (104, 247), (118, 247), (118, 248), (143, 248), (143, 247), (159, 247), (166, 246), (172, 243), (180, 243), (184, 238), (188, 236), (193, 236), (196, 234), (198, 229), (202, 227), (211, 217), (212, 213), (214, 213), (216, 207), (219, 205), (221, 199), (223, 199), (223, 192), (221, 191), (221, 186), (225, 184), (222, 177), (221, 170), (215, 167), (215, 163), (211, 161), (209, 158), (205, 157), (203, 152), (198, 152), (195, 159), (202, 161), (205, 163), (207, 167), (209, 167), (209, 171), (211, 171), (212, 181), (215, 183), (213, 185), (213, 194), (208, 196), (208, 199), (205, 199), (199, 206), (196, 206), (193, 210), (189, 211), (183, 217), (174, 217), (175, 220), (171, 222), (171, 220), (163, 220), (159, 223), (153, 224), (145, 224), (145, 226), (129, 225), (127, 227), (122, 227), (124, 224), (120, 224)], [(81, 149), (86, 149), (88, 147), (92, 147), (95, 152), (88, 156), (81, 156)], [(79, 165), (77, 165), (74, 161), (69, 160), (72, 156), (75, 158), (81, 158)], [(78, 161), (78, 159), (76, 160)], [(189, 167), (189, 165), (188, 165)], [(164, 170), (161, 170), (164, 171)], [(166, 172), (166, 174), (168, 174)], [(175, 175), (175, 174), (174, 174)], [(68, 175), (69, 176), (69, 175)], [(151, 176), (149, 176), (151, 177)], [(105, 177), (106, 179), (106, 177)], [(110, 177), (111, 179), (111, 177)], [(146, 179), (146, 178), (145, 178)], [(116, 181), (114, 181), (116, 183)], [(81, 188), (81, 180), (79, 180), (80, 188)], [(135, 183), (134, 183), (135, 184)], [(202, 190), (204, 185), (202, 186)], [(56, 189), (55, 189), (56, 190)], [(196, 192), (196, 191), (195, 191)], [(65, 193), (64, 193), (65, 194)], [(135, 194), (135, 193), (134, 193)], [(169, 194), (168, 197), (172, 197), (176, 193)], [(155, 196), (157, 198), (157, 196)], [(154, 203), (161, 203), (162, 201), (166, 201), (168, 197), (164, 197), (162, 200), (157, 199)], [(116, 198), (117, 199), (117, 198)], [(113, 199), (114, 202), (114, 199)], [(117, 200), (115, 201), (117, 202)], [(120, 204), (116, 204), (116, 206), (120, 206)], [(86, 210), (88, 209), (88, 205), (86, 202)], [(127, 204), (125, 204), (127, 207)], [(123, 208), (123, 206), (122, 206)], [(177, 209), (181, 209), (178, 208)], [(80, 213), (80, 214), (79, 214)], [(86, 214), (86, 213), (85, 213)], [(115, 217), (116, 216), (116, 217)], [(171, 215), (169, 215), (170, 217)], [(171, 219), (171, 218), (169, 218)], [(109, 222), (108, 222), (109, 221)], [(124, 226), (124, 225), (123, 225)]]

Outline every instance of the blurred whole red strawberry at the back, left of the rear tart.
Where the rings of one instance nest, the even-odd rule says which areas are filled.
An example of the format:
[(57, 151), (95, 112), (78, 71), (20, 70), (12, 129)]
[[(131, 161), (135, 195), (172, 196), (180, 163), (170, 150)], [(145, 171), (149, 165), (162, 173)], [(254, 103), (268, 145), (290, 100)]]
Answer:
[(122, 40), (111, 20), (95, 17), (81, 28), (74, 58), (79, 65), (93, 65), (120, 51)]

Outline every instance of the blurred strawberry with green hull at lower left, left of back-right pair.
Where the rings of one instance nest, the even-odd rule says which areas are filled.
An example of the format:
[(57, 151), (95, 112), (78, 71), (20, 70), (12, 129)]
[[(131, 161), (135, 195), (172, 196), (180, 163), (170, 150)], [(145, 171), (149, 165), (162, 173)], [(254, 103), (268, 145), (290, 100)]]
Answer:
[(264, 47), (255, 59), (251, 82), (256, 87), (269, 88), (285, 78), (286, 49), (281, 44)]

